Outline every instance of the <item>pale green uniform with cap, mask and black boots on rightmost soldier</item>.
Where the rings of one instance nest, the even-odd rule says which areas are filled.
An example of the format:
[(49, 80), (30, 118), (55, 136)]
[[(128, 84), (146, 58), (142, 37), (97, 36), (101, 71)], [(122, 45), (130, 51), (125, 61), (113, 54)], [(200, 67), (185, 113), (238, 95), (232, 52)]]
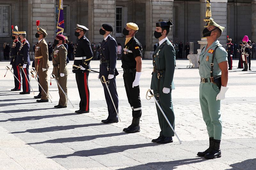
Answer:
[[(218, 25), (213, 20), (210, 21), (208, 26), (215, 26), (215, 29), (220, 29), (221, 33), (225, 29)], [(203, 36), (211, 36), (211, 31), (204, 29)], [(216, 31), (214, 31), (216, 32)], [(213, 82), (214, 78), (221, 75), (219, 64), (223, 61), (228, 61), (228, 53), (224, 47), (220, 45), (218, 40), (215, 40), (212, 45), (206, 49), (207, 45), (203, 47), (199, 56), (199, 74), (201, 82), (199, 86), (199, 100), (203, 119), (207, 127), (209, 135), (209, 148), (204, 152), (198, 152), (198, 156), (206, 159), (220, 158), (220, 140), (222, 133), (222, 120), (220, 114), (220, 100), (217, 100), (217, 95), (220, 89), (216, 83)], [(214, 60), (212, 63), (212, 57)], [(213, 66), (213, 77), (211, 78), (211, 68)], [(223, 87), (224, 88), (224, 87)]]

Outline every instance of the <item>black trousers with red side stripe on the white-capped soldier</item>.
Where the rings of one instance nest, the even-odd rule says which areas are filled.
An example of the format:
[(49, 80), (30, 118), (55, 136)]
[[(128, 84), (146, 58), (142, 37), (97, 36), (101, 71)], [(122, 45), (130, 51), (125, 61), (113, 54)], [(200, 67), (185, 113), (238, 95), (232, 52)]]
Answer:
[(80, 96), (79, 109), (89, 111), (90, 91), (88, 87), (89, 71), (84, 73), (76, 73), (76, 83)]

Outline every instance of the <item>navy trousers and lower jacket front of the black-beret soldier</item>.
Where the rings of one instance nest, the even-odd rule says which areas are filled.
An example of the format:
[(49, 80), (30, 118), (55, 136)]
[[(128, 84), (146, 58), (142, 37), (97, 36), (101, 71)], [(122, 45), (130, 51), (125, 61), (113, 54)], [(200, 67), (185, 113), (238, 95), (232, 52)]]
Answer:
[[(113, 79), (109, 79), (108, 80), (108, 69), (107, 69), (107, 63), (102, 63), (100, 64), (100, 78), (101, 76), (104, 75), (104, 77), (106, 78), (106, 81), (109, 81), (108, 84), (108, 89), (110, 91), (110, 94), (112, 96), (112, 99), (115, 103), (116, 106), (116, 110), (114, 108), (113, 102), (109, 96), (108, 93), (108, 89), (106, 87), (105, 83), (102, 83), (103, 89), (104, 89), (104, 94), (105, 94), (105, 99), (106, 99), (106, 103), (108, 106), (108, 119), (112, 119), (112, 120), (118, 120), (118, 95), (117, 95), (117, 91), (116, 91), (116, 76), (114, 76)], [(116, 113), (117, 111), (117, 113)]]

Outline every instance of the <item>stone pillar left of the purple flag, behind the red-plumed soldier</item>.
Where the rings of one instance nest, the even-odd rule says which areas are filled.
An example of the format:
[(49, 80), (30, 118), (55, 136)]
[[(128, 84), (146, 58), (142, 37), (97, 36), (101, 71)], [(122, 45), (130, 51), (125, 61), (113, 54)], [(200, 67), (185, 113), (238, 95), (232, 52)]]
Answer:
[(52, 42), (56, 34), (55, 0), (28, 0), (28, 30), (26, 32), (31, 49), (34, 43), (38, 41), (35, 37), (36, 20), (40, 20), (39, 27), (45, 29), (48, 34), (45, 38), (46, 42)]

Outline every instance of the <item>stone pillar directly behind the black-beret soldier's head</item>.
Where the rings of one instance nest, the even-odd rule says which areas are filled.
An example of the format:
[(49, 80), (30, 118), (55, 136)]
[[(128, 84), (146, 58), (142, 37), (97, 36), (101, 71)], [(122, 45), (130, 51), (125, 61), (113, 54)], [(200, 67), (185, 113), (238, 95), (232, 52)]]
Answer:
[(91, 43), (103, 40), (99, 30), (104, 23), (113, 25), (115, 30), (116, 0), (88, 0), (88, 38)]

